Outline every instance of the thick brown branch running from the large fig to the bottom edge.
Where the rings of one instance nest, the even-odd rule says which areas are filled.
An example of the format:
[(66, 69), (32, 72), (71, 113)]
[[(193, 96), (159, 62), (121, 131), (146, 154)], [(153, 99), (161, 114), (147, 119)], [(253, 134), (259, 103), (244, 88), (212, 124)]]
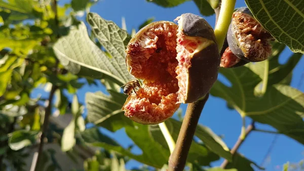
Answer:
[(193, 136), (208, 97), (209, 93), (204, 98), (188, 104), (176, 141), (176, 147), (169, 158), (168, 171), (182, 171), (184, 169)]

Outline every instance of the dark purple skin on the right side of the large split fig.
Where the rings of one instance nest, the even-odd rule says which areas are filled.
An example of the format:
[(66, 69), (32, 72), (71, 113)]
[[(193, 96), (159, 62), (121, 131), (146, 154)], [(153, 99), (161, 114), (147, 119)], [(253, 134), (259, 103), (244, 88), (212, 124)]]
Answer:
[(205, 96), (217, 80), (220, 55), (213, 28), (202, 17), (185, 13), (180, 16), (179, 27), (189, 39), (203, 38), (206, 47), (191, 56), (187, 73), (187, 89), (183, 103), (191, 103)]

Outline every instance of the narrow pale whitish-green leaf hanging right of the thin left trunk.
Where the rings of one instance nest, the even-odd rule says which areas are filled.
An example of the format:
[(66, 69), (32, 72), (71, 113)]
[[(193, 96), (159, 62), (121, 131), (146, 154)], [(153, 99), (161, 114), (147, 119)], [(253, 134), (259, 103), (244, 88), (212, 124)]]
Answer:
[(72, 119), (70, 123), (64, 128), (61, 138), (61, 150), (69, 151), (76, 143), (74, 138), (75, 133), (75, 120)]

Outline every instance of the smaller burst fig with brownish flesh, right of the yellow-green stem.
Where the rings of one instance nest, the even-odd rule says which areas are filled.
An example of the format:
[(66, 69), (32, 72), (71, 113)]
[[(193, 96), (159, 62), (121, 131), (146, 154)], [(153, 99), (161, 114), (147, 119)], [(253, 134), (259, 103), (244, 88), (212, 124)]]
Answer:
[(263, 61), (272, 53), (269, 42), (273, 39), (248, 8), (239, 8), (233, 13), (227, 41), (237, 57), (249, 62)]

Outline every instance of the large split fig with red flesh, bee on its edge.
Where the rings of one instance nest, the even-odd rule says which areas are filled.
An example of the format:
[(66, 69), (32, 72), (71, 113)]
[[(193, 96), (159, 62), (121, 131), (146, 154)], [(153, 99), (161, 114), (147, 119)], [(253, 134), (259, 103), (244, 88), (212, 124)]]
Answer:
[(206, 95), (217, 79), (220, 56), (212, 27), (194, 14), (150, 23), (126, 49), (128, 71), (143, 85), (128, 96), (122, 110), (141, 124), (170, 118), (181, 103)]

